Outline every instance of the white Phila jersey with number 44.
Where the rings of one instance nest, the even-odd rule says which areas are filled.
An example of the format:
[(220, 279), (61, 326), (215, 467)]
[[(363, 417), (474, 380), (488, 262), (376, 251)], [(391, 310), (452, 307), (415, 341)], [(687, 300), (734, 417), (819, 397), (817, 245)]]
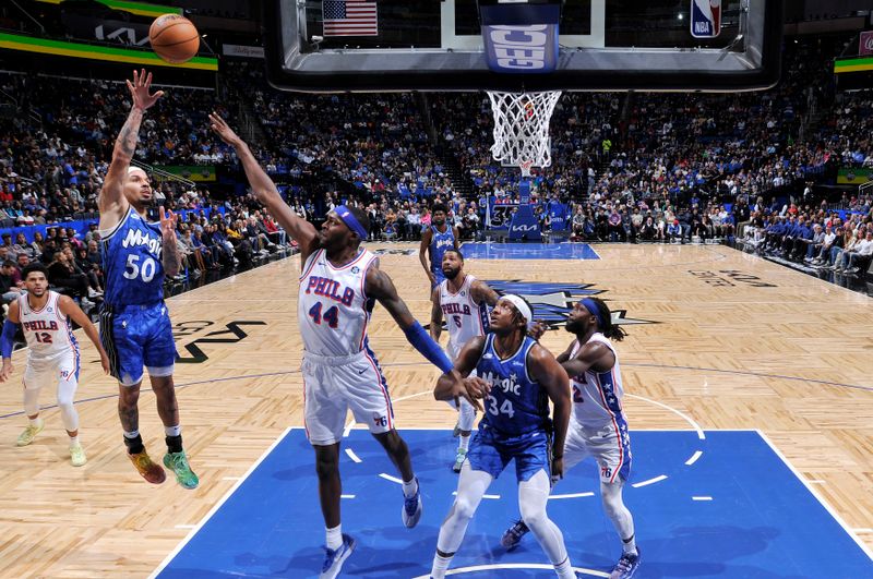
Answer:
[(334, 267), (324, 250), (309, 256), (300, 276), (297, 317), (307, 352), (349, 355), (367, 348), (367, 324), (373, 300), (363, 282), (375, 255), (367, 250), (349, 263)]

